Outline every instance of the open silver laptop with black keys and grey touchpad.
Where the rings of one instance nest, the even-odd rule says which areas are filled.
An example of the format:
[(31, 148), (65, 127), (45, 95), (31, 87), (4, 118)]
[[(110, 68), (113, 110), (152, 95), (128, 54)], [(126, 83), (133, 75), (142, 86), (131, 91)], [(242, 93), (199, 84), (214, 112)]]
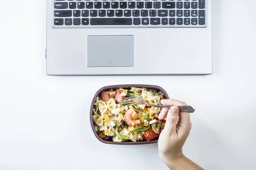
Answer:
[(212, 0), (47, 0), (47, 75), (212, 74)]

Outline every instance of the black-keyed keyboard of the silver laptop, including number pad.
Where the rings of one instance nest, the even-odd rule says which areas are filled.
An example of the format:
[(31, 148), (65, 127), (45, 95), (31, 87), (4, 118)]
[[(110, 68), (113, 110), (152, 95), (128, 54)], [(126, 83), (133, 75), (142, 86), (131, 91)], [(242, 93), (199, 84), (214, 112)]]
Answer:
[(53, 28), (206, 28), (207, 0), (52, 0)]

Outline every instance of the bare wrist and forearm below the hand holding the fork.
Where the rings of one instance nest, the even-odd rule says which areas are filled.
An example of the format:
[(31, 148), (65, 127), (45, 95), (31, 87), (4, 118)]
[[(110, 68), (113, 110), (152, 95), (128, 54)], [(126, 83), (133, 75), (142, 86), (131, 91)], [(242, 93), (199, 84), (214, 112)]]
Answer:
[(166, 159), (164, 162), (170, 170), (204, 170), (186, 156), (182, 156), (175, 161), (169, 161)]

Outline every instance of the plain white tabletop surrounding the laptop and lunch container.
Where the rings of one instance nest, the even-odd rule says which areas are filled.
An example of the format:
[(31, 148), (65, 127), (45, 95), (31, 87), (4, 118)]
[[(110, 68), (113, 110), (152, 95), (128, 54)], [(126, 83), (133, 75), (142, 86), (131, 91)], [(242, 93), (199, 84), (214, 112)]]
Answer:
[(125, 83), (160, 85), (196, 109), (183, 151), (197, 164), (255, 169), (255, 6), (214, 0), (212, 75), (49, 77), (46, 1), (0, 0), (0, 170), (167, 170), (157, 144), (108, 145), (92, 133), (93, 95)]

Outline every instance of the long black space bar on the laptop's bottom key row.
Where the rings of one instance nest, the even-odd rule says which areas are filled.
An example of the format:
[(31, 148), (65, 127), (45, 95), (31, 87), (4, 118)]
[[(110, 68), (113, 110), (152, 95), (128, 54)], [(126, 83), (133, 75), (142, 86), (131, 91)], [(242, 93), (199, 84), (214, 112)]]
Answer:
[(131, 25), (131, 18), (91, 18), (90, 25)]

